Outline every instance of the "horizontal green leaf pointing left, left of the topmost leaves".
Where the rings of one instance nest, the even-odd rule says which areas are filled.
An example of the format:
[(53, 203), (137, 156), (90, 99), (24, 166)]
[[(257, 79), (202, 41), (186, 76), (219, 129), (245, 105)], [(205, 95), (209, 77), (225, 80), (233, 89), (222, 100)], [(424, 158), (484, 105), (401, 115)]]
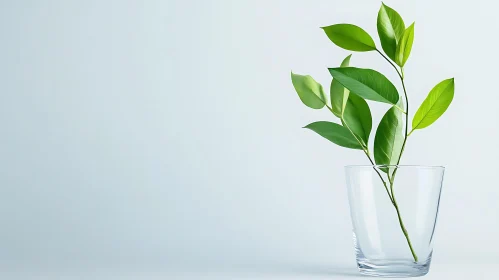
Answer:
[(338, 47), (357, 52), (376, 50), (373, 38), (364, 29), (353, 24), (334, 24), (322, 27)]

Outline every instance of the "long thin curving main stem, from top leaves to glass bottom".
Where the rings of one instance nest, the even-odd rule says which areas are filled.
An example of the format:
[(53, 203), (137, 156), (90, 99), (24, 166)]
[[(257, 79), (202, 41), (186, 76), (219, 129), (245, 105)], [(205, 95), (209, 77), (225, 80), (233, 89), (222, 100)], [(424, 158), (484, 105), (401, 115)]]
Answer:
[[(407, 90), (405, 88), (405, 83), (404, 83), (404, 69), (400, 67), (400, 71), (398, 70), (397, 66), (393, 64), (382, 52), (380, 52), (378, 49), (376, 51), (386, 60), (392, 67), (395, 69), (397, 74), (400, 77), (400, 81), (402, 83), (402, 88), (404, 89), (404, 96), (405, 96), (405, 133), (404, 133), (404, 142), (402, 143), (402, 148), (400, 149), (400, 155), (399, 158), (397, 159), (397, 165), (395, 166), (395, 170), (392, 173), (392, 176), (390, 176), (390, 169), (387, 171), (388, 175), (388, 180), (390, 182), (390, 191), (391, 191), (391, 200), (393, 207), (395, 207), (395, 211), (397, 212), (397, 217), (399, 220), (400, 228), (402, 229), (402, 232), (404, 233), (405, 239), (407, 240), (407, 244), (409, 245), (409, 249), (411, 250), (412, 257), (414, 258), (414, 261), (418, 261), (418, 256), (416, 255), (416, 252), (414, 251), (414, 248), (412, 247), (411, 239), (409, 238), (409, 233), (407, 232), (407, 229), (405, 228), (404, 222), (402, 221), (402, 216), (400, 215), (400, 209), (397, 204), (397, 199), (395, 198), (395, 192), (393, 191), (393, 184), (395, 182), (395, 175), (397, 175), (397, 170), (398, 170), (398, 165), (400, 164), (400, 159), (402, 158), (402, 154), (404, 153), (405, 145), (407, 143), (407, 137), (409, 136), (410, 133), (408, 132), (409, 128), (409, 98), (407, 97)], [(412, 133), (412, 131), (411, 131)]]

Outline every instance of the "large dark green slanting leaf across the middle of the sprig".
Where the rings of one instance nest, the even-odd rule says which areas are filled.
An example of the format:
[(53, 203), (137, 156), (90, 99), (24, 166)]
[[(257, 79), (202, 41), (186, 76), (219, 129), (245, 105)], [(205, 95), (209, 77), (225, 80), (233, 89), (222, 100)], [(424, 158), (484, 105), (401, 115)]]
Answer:
[(372, 69), (355, 67), (329, 68), (334, 79), (338, 80), (351, 93), (358, 96), (395, 105), (399, 94), (395, 86), (381, 73)]

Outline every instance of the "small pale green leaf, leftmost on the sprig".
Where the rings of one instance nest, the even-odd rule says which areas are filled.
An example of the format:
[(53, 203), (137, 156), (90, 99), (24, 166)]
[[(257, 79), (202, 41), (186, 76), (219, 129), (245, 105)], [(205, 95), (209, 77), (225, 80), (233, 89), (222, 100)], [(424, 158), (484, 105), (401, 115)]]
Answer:
[(326, 105), (326, 96), (322, 85), (309, 75), (302, 76), (291, 72), (291, 81), (303, 104), (312, 109), (322, 109)]

